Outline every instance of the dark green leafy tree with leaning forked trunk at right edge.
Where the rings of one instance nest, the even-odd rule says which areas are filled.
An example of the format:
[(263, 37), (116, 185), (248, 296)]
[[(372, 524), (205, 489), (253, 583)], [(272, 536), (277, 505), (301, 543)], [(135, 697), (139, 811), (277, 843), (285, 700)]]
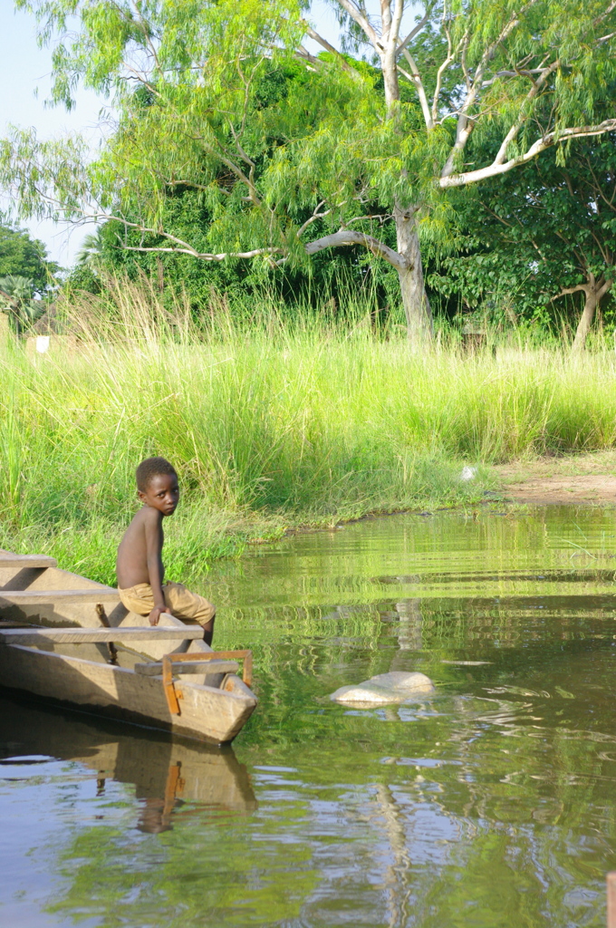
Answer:
[(466, 254), (445, 260), (430, 283), (468, 304), (515, 293), (523, 314), (584, 295), (573, 350), (584, 348), (599, 302), (616, 275), (614, 136), (579, 143), (565, 164), (556, 151), (491, 185), (459, 211)]

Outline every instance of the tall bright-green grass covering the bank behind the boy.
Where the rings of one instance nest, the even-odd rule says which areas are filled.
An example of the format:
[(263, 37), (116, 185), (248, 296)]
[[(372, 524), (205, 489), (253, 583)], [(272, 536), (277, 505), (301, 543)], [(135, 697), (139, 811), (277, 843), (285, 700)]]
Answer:
[(220, 304), (197, 330), (181, 302), (119, 284), (74, 308), (68, 344), (0, 354), (0, 547), (107, 582), (148, 455), (185, 490), (177, 578), (287, 526), (476, 499), (481, 470), (463, 483), (463, 462), (616, 439), (613, 352), (417, 354), (363, 318), (240, 324)]

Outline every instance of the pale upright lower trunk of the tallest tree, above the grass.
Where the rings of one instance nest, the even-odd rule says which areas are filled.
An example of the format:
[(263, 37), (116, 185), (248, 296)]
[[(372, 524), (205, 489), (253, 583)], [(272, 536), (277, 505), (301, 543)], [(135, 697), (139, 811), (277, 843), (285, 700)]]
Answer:
[(406, 332), (409, 342), (419, 346), (432, 341), (432, 313), (423, 279), (421, 251), (417, 238), (414, 208), (394, 210), (398, 253), (404, 266), (398, 267), (402, 303), (406, 316)]

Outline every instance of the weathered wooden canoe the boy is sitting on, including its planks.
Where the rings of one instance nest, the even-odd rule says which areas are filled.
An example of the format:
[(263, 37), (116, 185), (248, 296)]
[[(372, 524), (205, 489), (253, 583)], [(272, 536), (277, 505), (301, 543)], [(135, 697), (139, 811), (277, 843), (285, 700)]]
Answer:
[[(238, 670), (242, 664), (242, 678)], [(250, 651), (212, 651), (172, 615), (152, 627), (117, 589), (0, 549), (0, 687), (226, 744), (254, 711)]]

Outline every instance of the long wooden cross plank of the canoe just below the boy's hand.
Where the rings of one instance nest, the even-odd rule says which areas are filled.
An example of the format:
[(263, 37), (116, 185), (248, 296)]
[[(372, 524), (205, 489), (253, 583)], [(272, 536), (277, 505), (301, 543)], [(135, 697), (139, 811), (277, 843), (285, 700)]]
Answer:
[(1, 644), (99, 644), (106, 641), (191, 641), (203, 638), (200, 625), (144, 625), (116, 628), (0, 628)]

